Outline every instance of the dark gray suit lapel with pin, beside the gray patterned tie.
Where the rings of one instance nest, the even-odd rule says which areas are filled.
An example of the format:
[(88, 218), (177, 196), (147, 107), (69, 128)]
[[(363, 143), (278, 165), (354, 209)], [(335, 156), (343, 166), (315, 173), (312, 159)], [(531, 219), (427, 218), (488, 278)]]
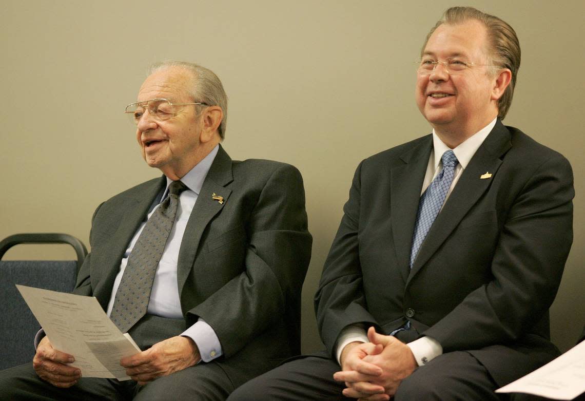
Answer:
[[(228, 200), (232, 190), (225, 188), (227, 184), (233, 181), (232, 159), (228, 153), (219, 146), (218, 154), (205, 177), (195, 206), (191, 211), (191, 216), (187, 222), (181, 248), (179, 250), (177, 261), (177, 283), (179, 294), (183, 292), (183, 286), (189, 273), (191, 272), (195, 256), (199, 250), (199, 242), (205, 227), (209, 221), (222, 210)], [(215, 194), (215, 195), (214, 195)], [(213, 197), (223, 197), (223, 202), (219, 203)]]

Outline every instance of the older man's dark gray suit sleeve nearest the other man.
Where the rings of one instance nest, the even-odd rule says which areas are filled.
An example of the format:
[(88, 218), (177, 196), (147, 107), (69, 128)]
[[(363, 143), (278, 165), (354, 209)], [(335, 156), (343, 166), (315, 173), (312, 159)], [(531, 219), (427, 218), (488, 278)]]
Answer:
[[(298, 301), (311, 258), (300, 172), (282, 164), (270, 175), (247, 220), (245, 266), (188, 314), (201, 317), (230, 357)], [(298, 317), (297, 317), (298, 318)]]

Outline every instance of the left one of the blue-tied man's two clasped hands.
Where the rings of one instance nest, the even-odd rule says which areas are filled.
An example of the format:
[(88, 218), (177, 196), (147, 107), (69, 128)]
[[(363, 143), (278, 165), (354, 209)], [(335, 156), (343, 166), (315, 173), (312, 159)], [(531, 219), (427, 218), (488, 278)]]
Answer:
[(347, 389), (343, 394), (351, 390), (350, 394), (384, 395), (384, 387), (373, 384), (372, 382), (379, 378), (383, 371), (379, 366), (366, 362), (364, 359), (369, 355), (379, 354), (383, 350), (382, 345), (376, 345), (371, 342), (350, 342), (341, 353), (340, 364), (342, 371), (336, 372), (333, 379), (339, 382), (345, 382)]

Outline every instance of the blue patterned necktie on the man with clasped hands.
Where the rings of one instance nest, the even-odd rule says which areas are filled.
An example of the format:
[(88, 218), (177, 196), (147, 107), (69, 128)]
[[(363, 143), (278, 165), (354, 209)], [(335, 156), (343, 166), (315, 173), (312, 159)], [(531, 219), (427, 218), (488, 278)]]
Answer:
[(421, 196), (421, 203), (418, 205), (417, 222), (414, 226), (414, 234), (412, 235), (412, 247), (410, 253), (410, 267), (414, 264), (419, 249), (421, 249), (422, 242), (425, 241), (426, 234), (435, 218), (441, 211), (445, 197), (449, 192), (453, 177), (455, 177), (455, 166), (459, 161), (453, 153), (453, 150), (447, 150), (441, 157), (443, 162), (443, 169), (431, 185), (426, 188), (426, 191)]

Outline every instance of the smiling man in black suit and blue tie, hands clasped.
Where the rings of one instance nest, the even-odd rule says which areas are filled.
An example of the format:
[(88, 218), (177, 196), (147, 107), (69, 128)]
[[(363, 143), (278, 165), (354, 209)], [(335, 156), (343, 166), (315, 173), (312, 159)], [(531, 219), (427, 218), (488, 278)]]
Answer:
[(572, 243), (573, 176), (501, 120), (520, 64), (503, 20), (455, 7), (429, 33), (417, 105), (433, 127), (363, 160), (315, 309), (325, 358), (229, 400), (498, 400), (558, 355), (548, 309)]

